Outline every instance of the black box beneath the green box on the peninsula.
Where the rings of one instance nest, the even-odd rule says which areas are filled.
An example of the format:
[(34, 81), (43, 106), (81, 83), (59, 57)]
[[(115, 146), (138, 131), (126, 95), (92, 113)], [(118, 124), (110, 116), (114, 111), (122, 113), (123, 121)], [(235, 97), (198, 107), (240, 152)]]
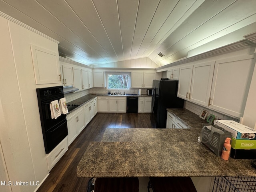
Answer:
[(256, 159), (256, 149), (233, 149), (231, 148), (230, 157), (234, 159)]

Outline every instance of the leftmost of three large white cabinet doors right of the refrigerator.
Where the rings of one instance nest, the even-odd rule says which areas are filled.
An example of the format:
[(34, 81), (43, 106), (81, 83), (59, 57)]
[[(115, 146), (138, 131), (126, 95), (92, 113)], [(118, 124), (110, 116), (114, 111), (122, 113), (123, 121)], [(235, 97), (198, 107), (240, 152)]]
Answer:
[(180, 98), (189, 99), (192, 71), (192, 65), (180, 68), (180, 80), (178, 85), (178, 97)]

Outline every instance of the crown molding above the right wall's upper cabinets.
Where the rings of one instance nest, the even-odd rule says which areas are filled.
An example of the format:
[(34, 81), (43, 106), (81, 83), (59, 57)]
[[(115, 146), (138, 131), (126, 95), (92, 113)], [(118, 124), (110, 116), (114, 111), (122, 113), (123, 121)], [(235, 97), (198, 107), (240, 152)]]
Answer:
[[(256, 35), (256, 33), (254, 33), (254, 34)], [(256, 41), (256, 36), (254, 37), (254, 40)], [(246, 40), (241, 40), (241, 41), (238, 41), (238, 42), (226, 45), (226, 46), (222, 46), (220, 48), (216, 48), (214, 50), (210, 50), (208, 52), (204, 52), (202, 54), (198, 54), (198, 55), (195, 55), (195, 56), (192, 56), (192, 57), (188, 57), (188, 58), (184, 58), (184, 59), (172, 62), (170, 64), (158, 67), (158, 68), (156, 68), (156, 70), (159, 71), (159, 70), (163, 70), (163, 69), (168, 68), (168, 67), (177, 66), (177, 65), (180, 65), (180, 64), (186, 64), (188, 62), (196, 61), (196, 60), (199, 60), (199, 59), (202, 59), (202, 58), (209, 58), (209, 57), (212, 57), (212, 56), (222, 55), (222, 54), (225, 54), (225, 53), (239, 51), (239, 50), (243, 50), (243, 49), (246, 49), (246, 48), (252, 48), (252, 47), (255, 47), (254, 42), (252, 42), (250, 40), (247, 40), (247, 39)]]

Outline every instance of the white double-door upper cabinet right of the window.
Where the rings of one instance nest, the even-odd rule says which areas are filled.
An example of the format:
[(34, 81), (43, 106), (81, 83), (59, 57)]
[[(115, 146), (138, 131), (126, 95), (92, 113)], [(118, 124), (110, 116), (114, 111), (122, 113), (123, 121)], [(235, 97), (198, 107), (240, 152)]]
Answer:
[(154, 79), (156, 79), (155, 71), (132, 72), (132, 88), (152, 88)]

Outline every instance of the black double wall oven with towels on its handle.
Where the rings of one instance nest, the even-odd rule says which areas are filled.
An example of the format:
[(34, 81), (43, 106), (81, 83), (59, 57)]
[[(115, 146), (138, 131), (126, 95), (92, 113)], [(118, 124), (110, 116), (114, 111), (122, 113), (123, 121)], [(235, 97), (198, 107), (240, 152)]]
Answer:
[(66, 114), (51, 118), (50, 102), (64, 98), (63, 86), (37, 88), (38, 107), (46, 154), (50, 153), (67, 135)]

